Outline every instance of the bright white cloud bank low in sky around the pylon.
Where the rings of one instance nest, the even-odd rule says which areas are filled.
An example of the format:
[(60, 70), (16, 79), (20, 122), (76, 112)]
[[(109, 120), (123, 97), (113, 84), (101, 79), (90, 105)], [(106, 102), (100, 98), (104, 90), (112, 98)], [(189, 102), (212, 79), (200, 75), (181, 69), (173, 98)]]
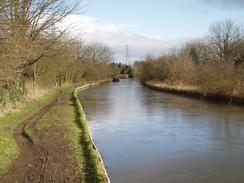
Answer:
[(162, 36), (150, 36), (133, 31), (136, 25), (110, 23), (91, 16), (70, 15), (62, 23), (72, 36), (82, 36), (87, 42), (102, 42), (112, 48), (118, 61), (125, 60), (129, 45), (130, 60), (142, 59), (146, 54), (159, 55), (163, 50), (182, 44), (186, 39), (173, 40)]

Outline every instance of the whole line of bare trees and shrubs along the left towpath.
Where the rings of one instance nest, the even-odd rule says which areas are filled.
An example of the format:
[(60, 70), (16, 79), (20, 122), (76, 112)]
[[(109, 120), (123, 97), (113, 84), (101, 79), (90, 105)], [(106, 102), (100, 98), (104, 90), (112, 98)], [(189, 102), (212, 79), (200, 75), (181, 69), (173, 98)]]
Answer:
[(40, 88), (112, 75), (109, 47), (56, 28), (85, 6), (80, 0), (0, 0), (0, 109)]

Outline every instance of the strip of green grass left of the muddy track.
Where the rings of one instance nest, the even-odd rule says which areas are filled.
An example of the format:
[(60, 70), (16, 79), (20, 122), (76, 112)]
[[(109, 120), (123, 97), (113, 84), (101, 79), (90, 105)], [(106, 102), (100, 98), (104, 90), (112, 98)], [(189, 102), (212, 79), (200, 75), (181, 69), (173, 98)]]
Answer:
[(18, 110), (0, 117), (0, 174), (5, 173), (19, 155), (19, 147), (13, 136), (14, 129), (30, 114), (49, 102), (58, 91), (58, 88), (50, 89), (38, 98), (25, 101)]

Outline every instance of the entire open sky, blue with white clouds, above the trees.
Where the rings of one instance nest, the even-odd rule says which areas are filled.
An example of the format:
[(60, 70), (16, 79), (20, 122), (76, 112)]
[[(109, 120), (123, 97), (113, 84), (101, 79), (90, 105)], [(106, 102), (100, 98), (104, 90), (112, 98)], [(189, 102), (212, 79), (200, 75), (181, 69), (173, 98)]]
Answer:
[(69, 23), (85, 42), (111, 47), (119, 62), (180, 47), (207, 35), (209, 26), (232, 19), (244, 24), (244, 0), (83, 0), (87, 6)]

